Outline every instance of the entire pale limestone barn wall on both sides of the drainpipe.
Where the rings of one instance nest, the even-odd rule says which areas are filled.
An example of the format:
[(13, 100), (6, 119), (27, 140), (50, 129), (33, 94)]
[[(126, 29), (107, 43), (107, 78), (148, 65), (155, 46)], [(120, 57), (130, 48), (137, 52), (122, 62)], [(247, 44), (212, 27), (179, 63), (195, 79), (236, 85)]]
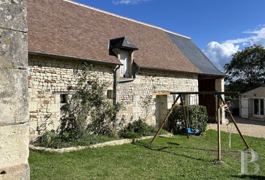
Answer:
[[(73, 93), (69, 86), (76, 86), (78, 76), (75, 75), (75, 71), (81, 71), (82, 66), (83, 62), (80, 60), (29, 54), (27, 78), (31, 139), (34, 139), (44, 130), (56, 130), (58, 128), (60, 123), (60, 94)], [(90, 74), (108, 81), (108, 89), (111, 90), (113, 89), (114, 68), (115, 65), (93, 63)], [(141, 117), (145, 118), (149, 124), (157, 124), (159, 118), (164, 118), (166, 115), (173, 97), (168, 96), (168, 98), (163, 99), (166, 103), (161, 107), (161, 105), (157, 106), (157, 102), (153, 100), (155, 96), (152, 95), (152, 92), (176, 90), (197, 91), (197, 75), (141, 69), (136, 74), (134, 81), (117, 85), (117, 101), (124, 104), (126, 108), (119, 112), (118, 117), (125, 115), (126, 122)]]

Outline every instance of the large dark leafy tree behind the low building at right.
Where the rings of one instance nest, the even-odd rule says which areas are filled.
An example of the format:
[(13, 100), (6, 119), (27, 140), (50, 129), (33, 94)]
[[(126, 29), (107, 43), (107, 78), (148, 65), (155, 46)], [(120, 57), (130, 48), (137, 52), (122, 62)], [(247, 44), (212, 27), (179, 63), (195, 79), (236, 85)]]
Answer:
[(224, 65), (226, 91), (240, 93), (259, 87), (265, 74), (265, 49), (261, 45), (245, 47), (232, 55), (230, 63)]

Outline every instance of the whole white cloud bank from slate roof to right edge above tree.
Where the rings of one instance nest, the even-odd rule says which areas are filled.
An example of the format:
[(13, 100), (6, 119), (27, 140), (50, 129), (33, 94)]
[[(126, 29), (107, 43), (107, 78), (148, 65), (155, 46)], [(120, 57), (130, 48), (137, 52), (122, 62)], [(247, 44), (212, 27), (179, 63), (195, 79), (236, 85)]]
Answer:
[(221, 43), (211, 41), (202, 49), (202, 52), (219, 70), (223, 70), (224, 64), (230, 62), (231, 55), (239, 50), (240, 45), (244, 47), (257, 44), (265, 47), (265, 24), (259, 24), (255, 29), (248, 29), (242, 33), (249, 34), (249, 36), (229, 39)]

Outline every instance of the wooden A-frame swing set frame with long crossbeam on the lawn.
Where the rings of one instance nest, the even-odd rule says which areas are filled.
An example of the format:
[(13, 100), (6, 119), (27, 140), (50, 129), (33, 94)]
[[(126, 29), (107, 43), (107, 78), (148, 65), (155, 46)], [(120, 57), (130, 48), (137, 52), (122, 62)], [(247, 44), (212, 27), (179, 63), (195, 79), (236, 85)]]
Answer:
[[(157, 137), (157, 135), (159, 134), (160, 130), (162, 129), (162, 127), (164, 126), (166, 120), (168, 119), (168, 116), (170, 115), (170, 113), (172, 112), (173, 108), (175, 106), (181, 105), (182, 106), (182, 112), (183, 112), (183, 117), (184, 117), (184, 122), (185, 122), (185, 128), (186, 128), (186, 134), (187, 134), (187, 138), (189, 138), (189, 134), (187, 132), (187, 118), (186, 118), (186, 114), (185, 114), (185, 109), (184, 109), (184, 104), (183, 104), (183, 99), (182, 99), (182, 95), (185, 94), (198, 94), (198, 95), (216, 95), (217, 97), (217, 136), (218, 136), (218, 153), (217, 153), (217, 160), (220, 161), (221, 160), (221, 133), (220, 133), (220, 108), (225, 108), (228, 105), (225, 103), (225, 101), (222, 98), (222, 94), (223, 95), (239, 95), (238, 92), (220, 92), (220, 91), (210, 91), (210, 92), (153, 92), (153, 95), (169, 95), (169, 94), (178, 94), (177, 98), (174, 100), (170, 110), (167, 112), (167, 115), (165, 116), (163, 122), (161, 123), (159, 129), (157, 130), (157, 132), (155, 133), (154, 137), (152, 138), (150, 144), (153, 143), (153, 141), (155, 140), (155, 138)], [(177, 100), (180, 98), (180, 103), (176, 103)], [(220, 101), (222, 104), (220, 104)], [(239, 130), (231, 112), (228, 110), (227, 111), (230, 118), (232, 119), (232, 122), (236, 128), (236, 130), (238, 131), (238, 133), (240, 134), (240, 137), (242, 138), (245, 146), (247, 149), (249, 149), (249, 145), (247, 144), (245, 138), (243, 137), (241, 131)]]

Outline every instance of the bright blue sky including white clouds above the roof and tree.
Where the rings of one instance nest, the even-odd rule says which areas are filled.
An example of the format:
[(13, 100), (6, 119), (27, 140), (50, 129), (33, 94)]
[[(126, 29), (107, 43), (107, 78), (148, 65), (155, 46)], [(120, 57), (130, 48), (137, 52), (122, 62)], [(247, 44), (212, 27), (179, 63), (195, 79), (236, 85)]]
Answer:
[(265, 46), (265, 0), (75, 0), (190, 36), (220, 69), (245, 46)]

